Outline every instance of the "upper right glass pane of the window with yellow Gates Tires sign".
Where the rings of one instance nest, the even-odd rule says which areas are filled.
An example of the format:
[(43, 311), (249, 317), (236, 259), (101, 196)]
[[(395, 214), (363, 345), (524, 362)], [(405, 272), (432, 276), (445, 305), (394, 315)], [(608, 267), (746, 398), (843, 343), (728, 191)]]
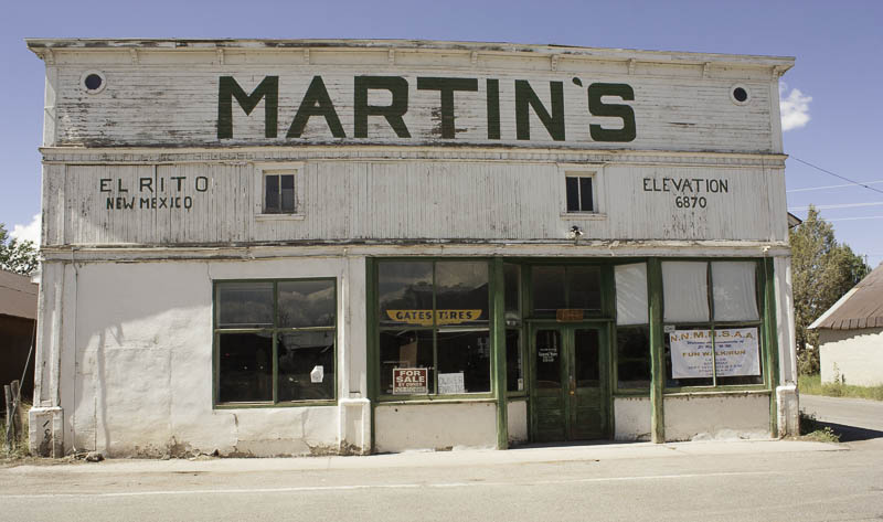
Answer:
[(438, 262), (435, 281), (438, 326), (488, 322), (487, 262)]

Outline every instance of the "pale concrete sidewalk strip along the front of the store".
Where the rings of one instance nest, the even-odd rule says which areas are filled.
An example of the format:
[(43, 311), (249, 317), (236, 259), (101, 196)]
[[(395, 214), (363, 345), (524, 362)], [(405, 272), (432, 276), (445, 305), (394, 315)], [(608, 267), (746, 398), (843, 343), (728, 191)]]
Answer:
[(71, 462), (56, 466), (22, 465), (7, 473), (169, 473), (309, 471), (391, 468), (457, 468), (531, 462), (566, 462), (620, 459), (653, 459), (677, 456), (788, 454), (800, 451), (844, 451), (845, 446), (802, 440), (725, 440), (692, 443), (610, 443), (581, 446), (521, 447), (506, 451), (462, 449), (453, 451), (406, 451), (361, 457), (294, 458), (211, 458), (146, 460), (108, 459), (103, 462)]

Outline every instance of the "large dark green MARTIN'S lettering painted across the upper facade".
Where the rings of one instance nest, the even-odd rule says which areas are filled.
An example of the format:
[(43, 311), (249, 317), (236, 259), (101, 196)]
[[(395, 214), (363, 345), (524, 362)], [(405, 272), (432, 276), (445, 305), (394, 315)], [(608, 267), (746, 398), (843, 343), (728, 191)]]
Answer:
[[(535, 87), (539, 82), (526, 79), (514, 79), (509, 84), (514, 92), (514, 136), (504, 136), (500, 126), (500, 81), (487, 78), (485, 82), (485, 125), (487, 128), (487, 139), (531, 139), (531, 114), (542, 124), (540, 132), (545, 132), (554, 141), (564, 141), (565, 132), (565, 110), (564, 102), (566, 96), (573, 96), (573, 87), (567, 92), (564, 82), (549, 82), (549, 99), (538, 95)], [(635, 92), (627, 84), (594, 83), (587, 88), (582, 87), (582, 81), (574, 78), (574, 85), (588, 96), (587, 111), (591, 116), (606, 117), (614, 121), (610, 124), (591, 124), (588, 136), (592, 141), (606, 142), (628, 142), (634, 141), (637, 136), (635, 124), (635, 110), (625, 103), (615, 103), (618, 98), (623, 102), (634, 102)], [(370, 121), (383, 118), (385, 125), (402, 139), (412, 138), (412, 134), (405, 124), (404, 116), (408, 111), (408, 100), (412, 89), (435, 90), (438, 93), (437, 109), (433, 110), (433, 118), (437, 118), (439, 125), (434, 128), (433, 134), (442, 139), (455, 139), (457, 132), (465, 129), (456, 127), (458, 114), (458, 99), (467, 96), (478, 96), (472, 93), (479, 90), (478, 78), (457, 78), (457, 77), (417, 77), (416, 85), (412, 86), (407, 78), (403, 76), (371, 76), (360, 75), (353, 77), (353, 98), (333, 99), (326, 88), (326, 83), (321, 76), (313, 76), (309, 87), (301, 95), (300, 103), (286, 138), (300, 138), (310, 118), (319, 117), (320, 125), (325, 125), (333, 138), (347, 138), (347, 130), (341, 125), (340, 115), (337, 107), (343, 110), (352, 110), (352, 131), (349, 136), (354, 138), (371, 138)], [(233, 76), (221, 76), (217, 83), (217, 139), (233, 139), (235, 129), (233, 128), (233, 100), (236, 100), (238, 109), (246, 116), (254, 113), (258, 105), (263, 103), (264, 114), (264, 137), (276, 138), (278, 136), (279, 119), (279, 76), (265, 76), (254, 89), (248, 93)], [(385, 103), (372, 103), (372, 93)], [(570, 94), (568, 94), (570, 93)], [(425, 95), (424, 95), (425, 96)], [(474, 106), (480, 107), (478, 99), (472, 99)], [(350, 105), (351, 103), (351, 105)], [(336, 105), (337, 104), (337, 105)], [(477, 104), (477, 105), (476, 105)], [(349, 107), (352, 107), (351, 109)], [(479, 109), (480, 110), (480, 109)], [(581, 109), (583, 110), (583, 109)], [(259, 114), (259, 113), (258, 113)], [(475, 116), (475, 115), (474, 115)], [(373, 119), (372, 119), (373, 118)], [(617, 124), (615, 119), (621, 120)], [(382, 120), (381, 120), (382, 121)], [(316, 125), (316, 124), (315, 124)], [(510, 130), (511, 132), (511, 130)], [(535, 135), (535, 132), (534, 132)], [(238, 138), (243, 138), (238, 136)], [(573, 139), (573, 138), (572, 138)]]

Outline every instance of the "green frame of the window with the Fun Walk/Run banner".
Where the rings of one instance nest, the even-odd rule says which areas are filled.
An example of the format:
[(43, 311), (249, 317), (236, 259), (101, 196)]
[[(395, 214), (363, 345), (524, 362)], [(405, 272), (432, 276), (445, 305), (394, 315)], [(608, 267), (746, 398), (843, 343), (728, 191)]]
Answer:
[[(705, 299), (708, 303), (708, 320), (685, 320), (685, 321), (667, 321), (664, 319), (664, 284), (660, 281), (660, 287), (662, 288), (662, 324), (663, 324), (663, 342), (662, 342), (662, 350), (663, 350), (663, 361), (664, 361), (664, 369), (666, 369), (666, 379), (664, 379), (664, 391), (666, 393), (680, 393), (680, 392), (691, 392), (691, 391), (704, 391), (704, 390), (765, 390), (768, 386), (769, 381), (769, 360), (767, 351), (769, 350), (767, 341), (767, 328), (768, 324), (764, 321), (765, 310), (764, 310), (764, 299), (763, 299), (763, 288), (765, 286), (764, 273), (762, 270), (760, 262), (757, 259), (745, 259), (745, 258), (715, 258), (715, 259), (662, 259), (661, 263), (664, 266), (668, 262), (685, 262), (685, 263), (696, 263), (696, 264), (704, 264), (705, 265)], [(712, 266), (714, 263), (727, 263), (727, 262), (735, 262), (735, 263), (749, 263), (754, 265), (754, 303), (757, 310), (757, 319), (752, 320), (716, 320), (715, 319), (715, 309), (714, 309), (714, 280), (712, 275)], [(716, 343), (717, 343), (717, 335), (716, 332), (719, 330), (725, 329), (736, 329), (736, 328), (754, 328), (756, 329), (757, 334), (757, 362), (759, 365), (759, 375), (746, 375), (746, 376), (721, 376), (717, 375), (717, 364), (716, 364)], [(682, 377), (680, 380), (675, 380), (672, 377), (672, 362), (671, 362), (671, 344), (670, 344), (670, 333), (672, 331), (683, 331), (683, 330), (709, 330), (712, 341), (712, 349), (711, 349), (711, 356), (712, 356), (712, 375), (711, 377), (693, 377), (693, 379), (685, 379)], [(681, 382), (688, 381), (688, 382)]]

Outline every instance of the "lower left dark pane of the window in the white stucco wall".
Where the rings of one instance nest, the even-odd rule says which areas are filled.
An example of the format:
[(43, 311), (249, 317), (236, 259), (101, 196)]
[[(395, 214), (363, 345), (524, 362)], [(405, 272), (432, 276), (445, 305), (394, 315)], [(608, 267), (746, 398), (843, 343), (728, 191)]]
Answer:
[(273, 401), (273, 337), (222, 333), (217, 337), (217, 401)]

